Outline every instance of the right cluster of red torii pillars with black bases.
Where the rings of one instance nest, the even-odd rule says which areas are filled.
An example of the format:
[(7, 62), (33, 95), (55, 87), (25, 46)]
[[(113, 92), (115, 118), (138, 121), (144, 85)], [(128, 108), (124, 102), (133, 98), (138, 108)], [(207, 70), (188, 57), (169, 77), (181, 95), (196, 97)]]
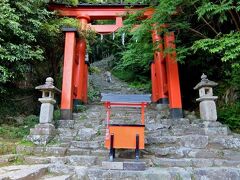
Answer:
[[(152, 40), (156, 45), (154, 61), (151, 64), (152, 101), (169, 104), (171, 118), (182, 118), (174, 32), (167, 32), (162, 38), (157, 30), (153, 30)], [(163, 55), (164, 50), (167, 50), (165, 57)]]

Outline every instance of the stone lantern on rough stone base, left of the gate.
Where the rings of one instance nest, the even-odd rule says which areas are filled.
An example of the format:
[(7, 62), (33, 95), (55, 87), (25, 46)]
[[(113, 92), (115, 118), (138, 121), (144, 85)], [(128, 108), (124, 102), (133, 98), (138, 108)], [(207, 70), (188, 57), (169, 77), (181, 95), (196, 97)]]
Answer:
[(42, 103), (39, 117), (39, 124), (30, 129), (28, 140), (34, 144), (46, 145), (56, 134), (53, 125), (53, 111), (56, 100), (54, 95), (61, 92), (53, 85), (53, 78), (48, 77), (45, 84), (37, 86), (35, 89), (42, 91), (42, 97), (38, 100)]

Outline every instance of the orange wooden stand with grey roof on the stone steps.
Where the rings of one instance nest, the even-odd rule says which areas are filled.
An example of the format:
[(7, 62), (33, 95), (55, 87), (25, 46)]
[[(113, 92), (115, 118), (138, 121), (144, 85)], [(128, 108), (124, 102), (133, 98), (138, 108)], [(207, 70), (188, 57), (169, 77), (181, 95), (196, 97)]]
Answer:
[[(144, 149), (144, 108), (151, 102), (151, 95), (114, 95), (102, 94), (102, 102), (107, 111), (105, 147), (110, 150), (109, 160), (115, 158), (115, 149), (135, 149), (136, 160), (139, 150)], [(141, 108), (139, 124), (110, 124), (112, 107)]]

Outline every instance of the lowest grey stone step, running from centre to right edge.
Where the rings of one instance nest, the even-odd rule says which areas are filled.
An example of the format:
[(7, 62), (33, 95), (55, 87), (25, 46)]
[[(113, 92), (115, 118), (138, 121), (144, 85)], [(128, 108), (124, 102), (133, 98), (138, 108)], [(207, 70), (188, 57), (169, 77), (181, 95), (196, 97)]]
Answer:
[(240, 178), (239, 168), (229, 167), (206, 167), (206, 168), (148, 168), (145, 171), (127, 171), (127, 170), (103, 170), (95, 167), (88, 169), (87, 179), (184, 179), (184, 180), (200, 180), (200, 179), (211, 179), (211, 180), (226, 180), (233, 179), (237, 180)]

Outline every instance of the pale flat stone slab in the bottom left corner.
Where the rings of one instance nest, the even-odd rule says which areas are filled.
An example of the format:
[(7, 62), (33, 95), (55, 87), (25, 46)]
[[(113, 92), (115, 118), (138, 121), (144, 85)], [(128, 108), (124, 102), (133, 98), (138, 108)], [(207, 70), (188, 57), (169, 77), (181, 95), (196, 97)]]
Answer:
[(0, 168), (0, 179), (40, 179), (48, 171), (49, 165), (20, 165)]

